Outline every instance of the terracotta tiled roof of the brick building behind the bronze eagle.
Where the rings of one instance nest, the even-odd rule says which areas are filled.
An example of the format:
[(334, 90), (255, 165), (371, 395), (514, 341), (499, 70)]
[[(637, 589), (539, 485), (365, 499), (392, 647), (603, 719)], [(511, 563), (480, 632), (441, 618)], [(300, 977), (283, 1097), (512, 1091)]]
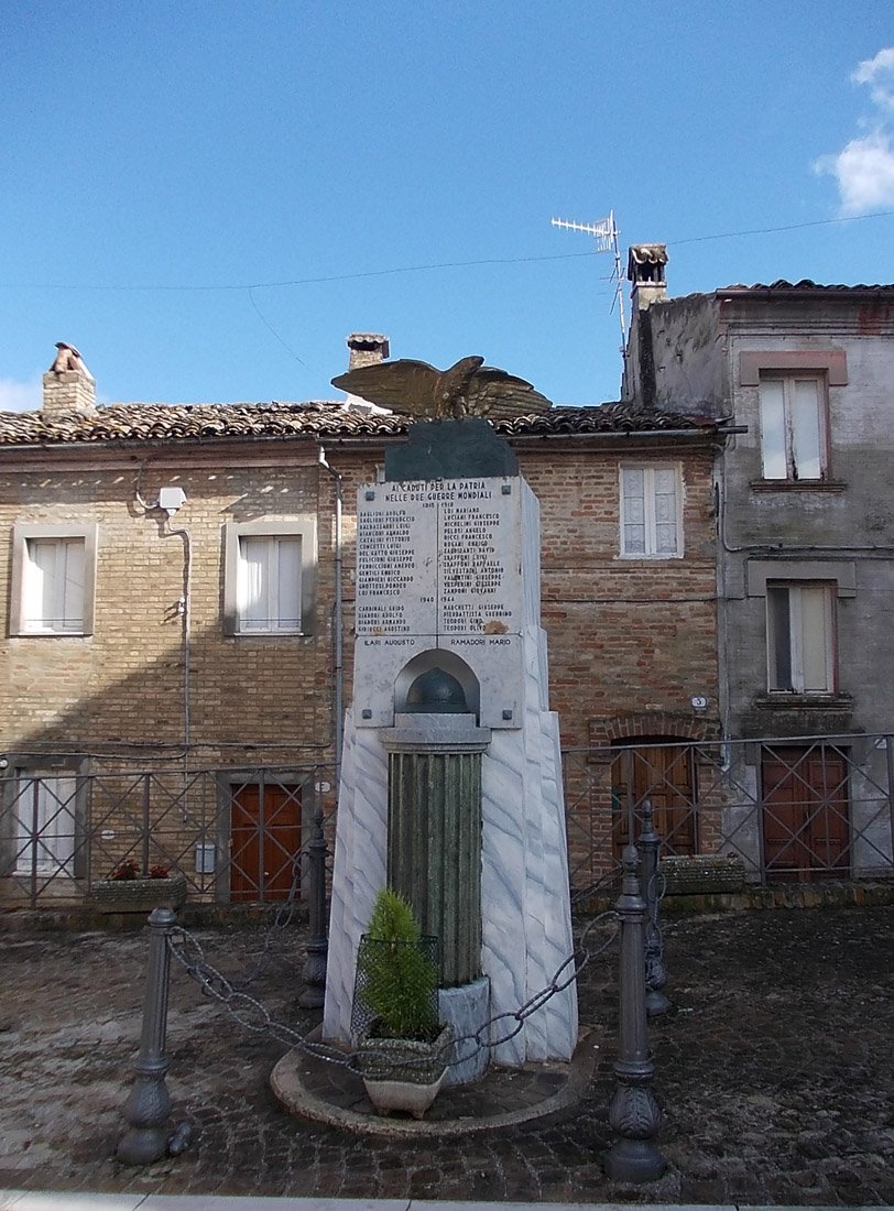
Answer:
[[(396, 414), (367, 413), (339, 403), (114, 403), (82, 413), (0, 412), (4, 446), (213, 441), (218, 437), (382, 437), (403, 434), (409, 421)], [(538, 417), (497, 420), (512, 436), (660, 432), (714, 429), (706, 418), (647, 412), (631, 403), (555, 407)]]

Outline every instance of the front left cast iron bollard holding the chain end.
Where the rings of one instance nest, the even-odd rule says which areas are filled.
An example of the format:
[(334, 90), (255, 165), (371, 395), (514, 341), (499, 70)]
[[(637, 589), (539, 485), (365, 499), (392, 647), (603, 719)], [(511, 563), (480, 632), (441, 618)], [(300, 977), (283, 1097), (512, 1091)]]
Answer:
[[(137, 1078), (124, 1108), (130, 1131), (118, 1146), (118, 1159), (125, 1165), (151, 1165), (168, 1152), (172, 1132), (168, 1125), (171, 1098), (165, 1085), (167, 1058), (167, 989), (171, 970), (168, 937), (177, 924), (170, 908), (155, 908), (149, 914), (149, 971), (143, 999), (143, 1032), (139, 1055), (133, 1064)], [(179, 1152), (189, 1141), (184, 1124), (173, 1132)]]

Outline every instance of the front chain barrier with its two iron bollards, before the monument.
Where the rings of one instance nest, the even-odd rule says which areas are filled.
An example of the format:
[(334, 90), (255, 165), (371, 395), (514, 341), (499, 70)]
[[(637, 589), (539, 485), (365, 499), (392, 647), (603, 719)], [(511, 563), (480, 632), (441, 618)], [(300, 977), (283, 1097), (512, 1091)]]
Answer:
[[(655, 1180), (666, 1164), (653, 1143), (653, 1137), (660, 1127), (661, 1115), (652, 1095), (654, 1067), (646, 1037), (649, 998), (653, 998), (653, 1004), (648, 1008), (649, 1014), (663, 1012), (669, 1008), (666, 998), (663, 998), (665, 1001), (663, 1008), (659, 1009), (654, 1004), (654, 998), (661, 995), (660, 988), (666, 982), (663, 965), (664, 945), (658, 917), (666, 880), (658, 863), (660, 839), (652, 828), (651, 804), (646, 808), (644, 830), (640, 843), (637, 846), (629, 844), (624, 851), (624, 878), (617, 903), (588, 923), (574, 951), (558, 965), (551, 980), (518, 1009), (495, 1014), (476, 1031), (455, 1039), (451, 1038), (434, 1056), (429, 1054), (418, 1060), (402, 1056), (399, 1064), (402, 1069), (429, 1068), (432, 1061), (443, 1066), (466, 1064), (482, 1051), (503, 1046), (525, 1028), (531, 1016), (543, 1009), (552, 997), (568, 988), (588, 964), (603, 954), (620, 936), (620, 1029), (619, 1054), (614, 1066), (618, 1085), (609, 1108), (609, 1123), (619, 1140), (607, 1155), (606, 1167), (609, 1176), (634, 1182)], [(321, 832), (321, 820), (322, 813), (319, 813), (319, 832)], [(269, 963), (273, 955), (273, 939), (283, 931), (292, 919), (303, 853), (304, 846), (292, 860), (292, 885), (288, 897), (267, 930), (260, 959), (241, 985), (234, 983), (206, 959), (199, 939), (178, 924), (171, 909), (156, 908), (150, 914), (150, 963), (141, 1051), (134, 1064), (134, 1086), (124, 1109), (130, 1130), (118, 1149), (119, 1159), (126, 1164), (150, 1164), (165, 1153), (177, 1155), (189, 1144), (189, 1124), (180, 1124), (173, 1132), (168, 1131), (170, 1097), (165, 1086), (167, 1073), (165, 1034), (172, 958), (204, 992), (224, 1006), (239, 1026), (253, 1034), (265, 1034), (316, 1060), (357, 1073), (368, 1071), (371, 1063), (378, 1069), (395, 1067), (394, 1055), (385, 1050), (384, 1044), (382, 1048), (367, 1044), (349, 1052), (303, 1035), (285, 1022), (276, 1021), (260, 1000), (245, 991)], [(641, 867), (641, 873), (637, 873), (637, 866)], [(613, 926), (608, 936), (598, 946), (591, 945), (591, 935), (606, 923)], [(313, 929), (311, 923), (311, 932)], [(464, 1044), (468, 1044), (470, 1050), (466, 1051)]]

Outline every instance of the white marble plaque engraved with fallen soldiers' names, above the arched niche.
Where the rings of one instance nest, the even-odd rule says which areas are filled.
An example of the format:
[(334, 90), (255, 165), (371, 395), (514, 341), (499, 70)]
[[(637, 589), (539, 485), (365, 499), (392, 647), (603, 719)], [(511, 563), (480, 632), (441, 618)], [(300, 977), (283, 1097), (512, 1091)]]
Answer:
[(532, 507), (533, 494), (516, 476), (386, 481), (360, 489), (359, 727), (394, 725), (401, 670), (430, 650), (452, 652), (470, 667), (481, 727), (521, 725), (522, 515)]

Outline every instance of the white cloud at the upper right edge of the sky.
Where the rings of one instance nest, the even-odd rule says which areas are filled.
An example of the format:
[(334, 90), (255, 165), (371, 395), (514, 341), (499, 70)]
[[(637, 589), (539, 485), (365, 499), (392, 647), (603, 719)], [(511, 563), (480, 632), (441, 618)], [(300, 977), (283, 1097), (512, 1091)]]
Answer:
[(861, 125), (871, 131), (850, 139), (841, 151), (820, 156), (814, 170), (835, 177), (842, 214), (867, 214), (878, 207), (894, 206), (894, 46), (864, 59), (850, 79), (870, 88), (875, 113)]

